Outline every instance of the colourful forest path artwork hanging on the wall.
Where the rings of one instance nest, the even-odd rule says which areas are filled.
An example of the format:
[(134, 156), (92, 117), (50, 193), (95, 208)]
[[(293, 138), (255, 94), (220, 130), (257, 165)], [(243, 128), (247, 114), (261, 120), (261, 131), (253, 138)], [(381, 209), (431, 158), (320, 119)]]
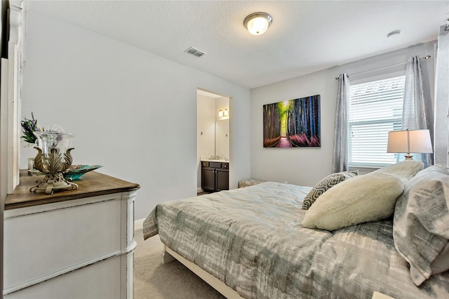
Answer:
[(263, 106), (264, 147), (320, 147), (320, 95)]

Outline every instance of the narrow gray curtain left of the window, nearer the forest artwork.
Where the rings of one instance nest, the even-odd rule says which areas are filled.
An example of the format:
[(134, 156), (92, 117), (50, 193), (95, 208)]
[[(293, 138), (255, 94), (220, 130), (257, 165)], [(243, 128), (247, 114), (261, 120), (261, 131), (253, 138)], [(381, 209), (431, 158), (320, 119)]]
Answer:
[(335, 133), (332, 157), (334, 173), (348, 170), (348, 107), (349, 78), (347, 74), (338, 77), (337, 107), (335, 108)]

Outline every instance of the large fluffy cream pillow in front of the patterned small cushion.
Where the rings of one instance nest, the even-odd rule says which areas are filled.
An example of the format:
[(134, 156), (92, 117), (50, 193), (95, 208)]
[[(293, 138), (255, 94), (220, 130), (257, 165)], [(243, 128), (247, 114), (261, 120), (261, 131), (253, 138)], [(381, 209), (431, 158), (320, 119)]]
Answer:
[(394, 213), (405, 184), (390, 173), (373, 172), (344, 180), (311, 205), (302, 227), (338, 230), (358, 223), (382, 220)]

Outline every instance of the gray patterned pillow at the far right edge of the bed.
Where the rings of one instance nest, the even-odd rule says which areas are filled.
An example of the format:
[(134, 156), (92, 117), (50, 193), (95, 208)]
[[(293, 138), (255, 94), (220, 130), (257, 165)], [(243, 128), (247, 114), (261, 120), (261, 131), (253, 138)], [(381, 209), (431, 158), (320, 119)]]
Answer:
[(417, 286), (444, 270), (437, 270), (434, 261), (444, 259), (448, 244), (448, 206), (449, 170), (444, 166), (430, 166), (417, 173), (396, 203), (394, 246), (410, 264), (410, 276)]

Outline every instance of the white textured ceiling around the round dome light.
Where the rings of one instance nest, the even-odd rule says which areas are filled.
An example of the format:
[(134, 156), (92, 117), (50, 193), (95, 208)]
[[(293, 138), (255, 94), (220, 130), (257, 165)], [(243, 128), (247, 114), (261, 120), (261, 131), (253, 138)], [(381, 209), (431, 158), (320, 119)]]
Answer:
[[(254, 88), (434, 41), (449, 1), (32, 0), (28, 10)], [(257, 11), (273, 18), (261, 36), (243, 27)], [(190, 46), (207, 54), (185, 53)]]

